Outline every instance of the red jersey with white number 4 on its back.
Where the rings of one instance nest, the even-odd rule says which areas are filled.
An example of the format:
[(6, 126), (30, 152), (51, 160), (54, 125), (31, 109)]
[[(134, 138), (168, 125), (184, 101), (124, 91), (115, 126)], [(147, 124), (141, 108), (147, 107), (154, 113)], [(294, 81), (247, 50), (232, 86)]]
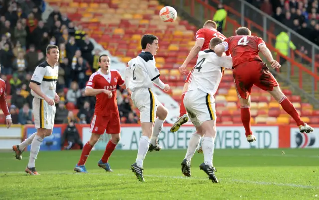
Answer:
[(257, 36), (236, 35), (225, 39), (222, 44), (225, 46), (225, 50), (230, 51), (234, 68), (243, 62), (256, 60), (262, 62), (258, 55), (259, 45), (265, 45), (265, 42)]

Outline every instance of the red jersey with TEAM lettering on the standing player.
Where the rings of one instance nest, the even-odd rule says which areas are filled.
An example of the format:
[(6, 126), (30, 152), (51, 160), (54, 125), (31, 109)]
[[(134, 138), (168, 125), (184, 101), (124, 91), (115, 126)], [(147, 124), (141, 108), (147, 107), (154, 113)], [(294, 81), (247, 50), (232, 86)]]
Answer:
[(104, 75), (99, 69), (97, 72), (90, 76), (86, 87), (93, 89), (106, 89), (112, 92), (112, 97), (109, 99), (108, 95), (105, 93), (100, 93), (96, 95), (96, 103), (94, 114), (97, 116), (109, 116), (111, 113), (116, 113), (118, 111), (118, 104), (116, 101), (116, 86), (124, 85), (124, 79), (117, 70), (110, 70), (110, 73)]

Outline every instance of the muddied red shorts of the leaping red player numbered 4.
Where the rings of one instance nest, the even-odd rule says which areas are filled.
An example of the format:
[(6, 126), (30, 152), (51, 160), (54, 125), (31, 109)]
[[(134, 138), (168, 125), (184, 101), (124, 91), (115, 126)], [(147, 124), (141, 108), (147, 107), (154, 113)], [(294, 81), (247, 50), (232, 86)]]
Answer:
[(262, 90), (272, 91), (278, 86), (277, 80), (270, 73), (266, 63), (250, 61), (239, 64), (233, 70), (235, 87), (242, 99), (247, 99), (251, 94), (253, 85)]

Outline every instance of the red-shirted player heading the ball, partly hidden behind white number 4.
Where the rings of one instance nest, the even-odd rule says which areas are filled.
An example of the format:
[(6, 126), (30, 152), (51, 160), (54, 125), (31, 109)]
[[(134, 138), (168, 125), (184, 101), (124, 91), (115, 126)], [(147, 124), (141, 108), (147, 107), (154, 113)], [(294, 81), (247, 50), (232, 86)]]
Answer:
[[(226, 37), (216, 30), (217, 24), (212, 20), (207, 20), (203, 26), (203, 28), (199, 29), (196, 33), (196, 43), (194, 47), (190, 50), (187, 58), (185, 59), (182, 66), (179, 67), (179, 71), (181, 74), (187, 74), (187, 65), (189, 62), (198, 55), (198, 52), (208, 50), (209, 42), (214, 37), (219, 37), (222, 40), (225, 40)], [(229, 55), (228, 52), (226, 55)], [(195, 68), (195, 67), (194, 67)], [(179, 118), (173, 124), (170, 131), (176, 132), (180, 128), (181, 125), (185, 124), (188, 121), (188, 116), (186, 114), (186, 109), (184, 106), (184, 96), (188, 90), (188, 85), (192, 80), (192, 72), (194, 68), (188, 73), (187, 78), (185, 80), (184, 88), (182, 91), (181, 101), (180, 101), (180, 110), (179, 110)]]

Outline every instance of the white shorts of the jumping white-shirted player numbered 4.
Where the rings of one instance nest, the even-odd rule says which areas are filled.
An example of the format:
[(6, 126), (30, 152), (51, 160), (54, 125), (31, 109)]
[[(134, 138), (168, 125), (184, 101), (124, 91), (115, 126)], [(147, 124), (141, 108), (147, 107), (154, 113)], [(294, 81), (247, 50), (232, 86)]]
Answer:
[(199, 127), (203, 122), (216, 120), (214, 97), (201, 90), (191, 90), (185, 94), (184, 105), (191, 122)]

